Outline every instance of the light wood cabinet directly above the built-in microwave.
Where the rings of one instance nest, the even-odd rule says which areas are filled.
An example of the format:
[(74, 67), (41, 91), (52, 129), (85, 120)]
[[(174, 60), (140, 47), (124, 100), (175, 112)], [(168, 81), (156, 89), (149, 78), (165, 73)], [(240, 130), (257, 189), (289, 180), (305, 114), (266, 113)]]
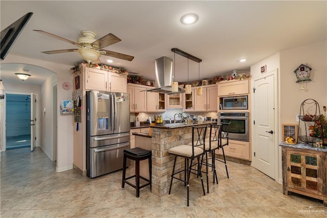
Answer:
[(243, 95), (249, 93), (248, 79), (237, 81), (221, 81), (218, 83), (219, 96)]

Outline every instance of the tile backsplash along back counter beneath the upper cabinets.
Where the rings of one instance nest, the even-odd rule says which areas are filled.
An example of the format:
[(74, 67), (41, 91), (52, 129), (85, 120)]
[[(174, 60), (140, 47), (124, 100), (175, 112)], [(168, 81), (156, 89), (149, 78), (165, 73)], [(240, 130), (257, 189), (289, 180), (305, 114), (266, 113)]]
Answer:
[[(139, 112), (138, 114), (138, 120), (141, 122), (145, 122), (147, 121), (147, 119), (149, 119), (149, 117), (151, 117), (151, 121), (154, 121), (154, 116), (155, 115), (161, 115), (162, 119), (164, 120), (173, 120), (174, 119), (174, 115), (175, 114), (179, 114), (179, 113), (183, 113), (183, 116), (190, 116), (190, 115), (194, 115), (194, 117), (197, 116), (203, 116), (203, 117), (211, 117), (211, 119), (217, 119), (218, 115), (217, 112), (183, 112), (182, 109), (167, 109), (166, 112), (162, 112), (162, 113), (147, 113), (147, 112)], [(176, 116), (176, 120), (179, 120), (180, 118), (177, 118)], [(134, 122), (135, 120), (135, 113), (130, 113), (130, 122)]]

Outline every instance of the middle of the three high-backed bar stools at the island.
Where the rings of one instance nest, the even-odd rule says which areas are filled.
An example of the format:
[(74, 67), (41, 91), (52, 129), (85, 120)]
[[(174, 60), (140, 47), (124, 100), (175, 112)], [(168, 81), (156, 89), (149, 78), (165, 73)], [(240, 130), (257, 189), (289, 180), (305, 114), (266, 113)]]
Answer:
[[(202, 156), (201, 160), (201, 169), (202, 164), (205, 165), (206, 171), (202, 171), (206, 173), (206, 187), (207, 187), (207, 193), (209, 193), (209, 176), (208, 176), (208, 167), (212, 168), (213, 171), (213, 183), (215, 183), (215, 180), (218, 184), (218, 177), (217, 177), (217, 171), (216, 171), (216, 165), (215, 165), (215, 151), (219, 148), (220, 145), (220, 134), (221, 134), (221, 124), (210, 124), (210, 131), (209, 131), (209, 138), (206, 139), (204, 146), (202, 147), (204, 149), (205, 153), (205, 160), (203, 160), (204, 156)], [(208, 154), (211, 154), (211, 157), (208, 157)], [(208, 160), (212, 160), (211, 163), (208, 163)]]

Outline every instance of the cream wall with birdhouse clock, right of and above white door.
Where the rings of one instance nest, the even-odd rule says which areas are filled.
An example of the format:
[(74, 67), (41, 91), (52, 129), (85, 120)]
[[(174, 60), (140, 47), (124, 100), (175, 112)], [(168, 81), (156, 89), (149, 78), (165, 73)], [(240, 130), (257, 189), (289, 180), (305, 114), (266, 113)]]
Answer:
[[(318, 101), (320, 111), (322, 106), (327, 106), (327, 45), (326, 41), (317, 42), (311, 45), (284, 50), (267, 57), (266, 59), (251, 66), (252, 79), (261, 75), (260, 68), (267, 66), (269, 73), (273, 69), (278, 71), (278, 143), (282, 142), (282, 124), (297, 124), (296, 115), (300, 112), (300, 104), (303, 100), (313, 98)], [(305, 82), (306, 90), (301, 90), (301, 83), (296, 83), (294, 70), (301, 64), (312, 68), (312, 81)], [(277, 146), (277, 145), (276, 145)], [(281, 183), (282, 176), (282, 152), (278, 148), (278, 178)]]

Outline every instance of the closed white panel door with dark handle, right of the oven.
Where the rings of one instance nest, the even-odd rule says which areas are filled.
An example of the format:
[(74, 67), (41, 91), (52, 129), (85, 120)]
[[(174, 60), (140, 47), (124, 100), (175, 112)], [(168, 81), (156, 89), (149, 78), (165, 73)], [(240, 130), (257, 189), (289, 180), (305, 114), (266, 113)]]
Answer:
[(275, 179), (274, 75), (254, 81), (254, 167)]

